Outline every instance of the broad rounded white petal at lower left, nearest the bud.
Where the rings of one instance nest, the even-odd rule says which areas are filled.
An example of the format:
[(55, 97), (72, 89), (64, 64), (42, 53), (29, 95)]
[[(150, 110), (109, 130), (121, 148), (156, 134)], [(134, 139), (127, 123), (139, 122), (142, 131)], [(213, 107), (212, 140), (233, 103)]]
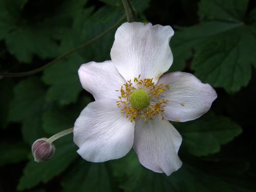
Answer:
[(134, 126), (120, 114), (115, 100), (94, 101), (83, 109), (74, 125), (77, 153), (91, 162), (121, 158), (133, 146)]

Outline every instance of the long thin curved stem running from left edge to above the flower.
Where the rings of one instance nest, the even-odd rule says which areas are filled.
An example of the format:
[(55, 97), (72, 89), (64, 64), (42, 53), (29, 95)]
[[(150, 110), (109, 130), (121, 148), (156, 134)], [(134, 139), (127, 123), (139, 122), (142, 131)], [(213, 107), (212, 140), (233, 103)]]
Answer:
[(124, 18), (125, 18), (125, 15), (123, 15), (113, 26), (109, 27), (108, 29), (106, 29), (102, 33), (98, 34), (97, 36), (95, 36), (91, 40), (89, 40), (89, 41), (85, 42), (84, 44), (82, 44), (82, 45), (80, 45), (80, 46), (78, 46), (78, 47), (76, 47), (76, 48), (74, 48), (74, 49), (64, 53), (63, 55), (60, 55), (59, 57), (53, 59), (52, 61), (48, 62), (46, 65), (44, 65), (44, 66), (42, 66), (40, 68), (31, 70), (31, 71), (21, 72), (21, 73), (3, 73), (3, 74), (0, 74), (0, 77), (1, 76), (3, 76), (3, 77), (24, 77), (24, 76), (28, 76), (28, 75), (32, 75), (32, 74), (38, 73), (38, 72), (44, 70), (45, 68), (47, 68), (48, 66), (52, 65), (53, 63), (61, 60), (62, 58), (67, 57), (68, 55), (74, 53), (75, 51), (90, 45), (92, 42), (94, 42), (95, 40), (99, 39), (100, 37), (102, 37), (106, 33), (110, 32), (112, 29), (114, 29), (118, 24), (120, 24), (122, 22), (122, 20)]

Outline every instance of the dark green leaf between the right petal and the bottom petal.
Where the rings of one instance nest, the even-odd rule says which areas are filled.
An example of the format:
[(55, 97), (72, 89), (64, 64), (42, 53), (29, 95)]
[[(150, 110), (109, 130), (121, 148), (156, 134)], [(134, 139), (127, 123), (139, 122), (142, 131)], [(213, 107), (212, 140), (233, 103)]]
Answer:
[(221, 145), (242, 133), (242, 128), (224, 116), (207, 113), (186, 123), (176, 123), (183, 138), (182, 146), (195, 156), (205, 156), (220, 151)]

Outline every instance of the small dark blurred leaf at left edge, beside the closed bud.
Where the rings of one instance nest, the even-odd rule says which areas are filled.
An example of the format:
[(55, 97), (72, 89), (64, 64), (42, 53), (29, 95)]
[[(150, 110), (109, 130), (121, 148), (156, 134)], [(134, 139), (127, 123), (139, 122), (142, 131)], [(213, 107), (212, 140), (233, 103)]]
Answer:
[(21, 142), (0, 142), (0, 166), (9, 163), (18, 163), (27, 159), (30, 148)]

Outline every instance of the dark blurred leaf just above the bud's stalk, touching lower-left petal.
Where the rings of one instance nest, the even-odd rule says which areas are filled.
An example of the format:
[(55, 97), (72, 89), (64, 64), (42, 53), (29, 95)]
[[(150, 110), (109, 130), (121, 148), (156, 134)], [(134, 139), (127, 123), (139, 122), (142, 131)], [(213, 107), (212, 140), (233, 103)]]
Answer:
[(68, 106), (65, 109), (53, 106), (48, 108), (43, 116), (43, 127), (49, 135), (56, 134), (60, 131), (74, 126), (74, 122), (79, 116), (80, 112), (86, 105), (91, 102), (90, 97), (82, 98), (78, 104)]

